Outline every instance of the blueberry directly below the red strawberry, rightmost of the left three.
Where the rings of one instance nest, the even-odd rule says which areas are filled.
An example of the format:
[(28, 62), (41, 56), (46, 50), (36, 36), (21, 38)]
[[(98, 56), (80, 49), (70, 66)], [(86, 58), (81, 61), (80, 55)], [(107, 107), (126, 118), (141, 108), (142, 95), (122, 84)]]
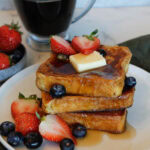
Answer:
[(42, 136), (38, 132), (30, 132), (24, 137), (24, 145), (27, 148), (38, 148), (43, 142)]

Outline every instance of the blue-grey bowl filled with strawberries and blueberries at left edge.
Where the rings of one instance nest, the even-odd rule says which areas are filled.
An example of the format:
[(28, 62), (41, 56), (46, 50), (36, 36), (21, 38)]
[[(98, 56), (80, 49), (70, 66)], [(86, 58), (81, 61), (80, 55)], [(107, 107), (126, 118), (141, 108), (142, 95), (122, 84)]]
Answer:
[(26, 63), (26, 49), (21, 44), (18, 23), (0, 27), (0, 82), (22, 70)]

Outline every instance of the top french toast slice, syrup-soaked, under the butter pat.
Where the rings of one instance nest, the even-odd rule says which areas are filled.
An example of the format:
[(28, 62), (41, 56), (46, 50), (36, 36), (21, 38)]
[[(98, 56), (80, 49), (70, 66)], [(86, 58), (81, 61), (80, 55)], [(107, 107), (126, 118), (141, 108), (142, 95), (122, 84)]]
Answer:
[(52, 85), (61, 84), (71, 95), (120, 96), (132, 54), (127, 47), (122, 46), (100, 48), (107, 53), (107, 65), (83, 73), (77, 73), (69, 62), (59, 61), (56, 54), (51, 54), (37, 70), (37, 87), (48, 92)]

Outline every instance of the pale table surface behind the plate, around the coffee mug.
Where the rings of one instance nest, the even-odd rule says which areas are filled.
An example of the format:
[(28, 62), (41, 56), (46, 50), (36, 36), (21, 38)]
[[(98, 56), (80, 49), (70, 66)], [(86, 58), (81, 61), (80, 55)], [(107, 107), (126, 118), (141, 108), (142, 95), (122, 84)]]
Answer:
[[(0, 25), (20, 19), (16, 11), (0, 11)], [(150, 7), (93, 8), (85, 17), (70, 26), (71, 36), (90, 33), (98, 28), (109, 35), (117, 44), (150, 33)], [(23, 44), (27, 49), (27, 66), (41, 63), (49, 57), (49, 52), (36, 52), (26, 44), (27, 31), (22, 28)], [(100, 38), (102, 33), (100, 33)], [(102, 36), (103, 37), (103, 36)], [(103, 39), (102, 39), (103, 41)]]

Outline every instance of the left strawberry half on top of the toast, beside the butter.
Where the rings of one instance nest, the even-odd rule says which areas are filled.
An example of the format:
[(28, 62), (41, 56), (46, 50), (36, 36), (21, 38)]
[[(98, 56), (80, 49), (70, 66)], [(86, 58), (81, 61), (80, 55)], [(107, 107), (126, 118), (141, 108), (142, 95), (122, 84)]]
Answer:
[(76, 54), (76, 51), (71, 47), (70, 43), (59, 36), (52, 36), (50, 38), (51, 50), (55, 53), (65, 55)]

